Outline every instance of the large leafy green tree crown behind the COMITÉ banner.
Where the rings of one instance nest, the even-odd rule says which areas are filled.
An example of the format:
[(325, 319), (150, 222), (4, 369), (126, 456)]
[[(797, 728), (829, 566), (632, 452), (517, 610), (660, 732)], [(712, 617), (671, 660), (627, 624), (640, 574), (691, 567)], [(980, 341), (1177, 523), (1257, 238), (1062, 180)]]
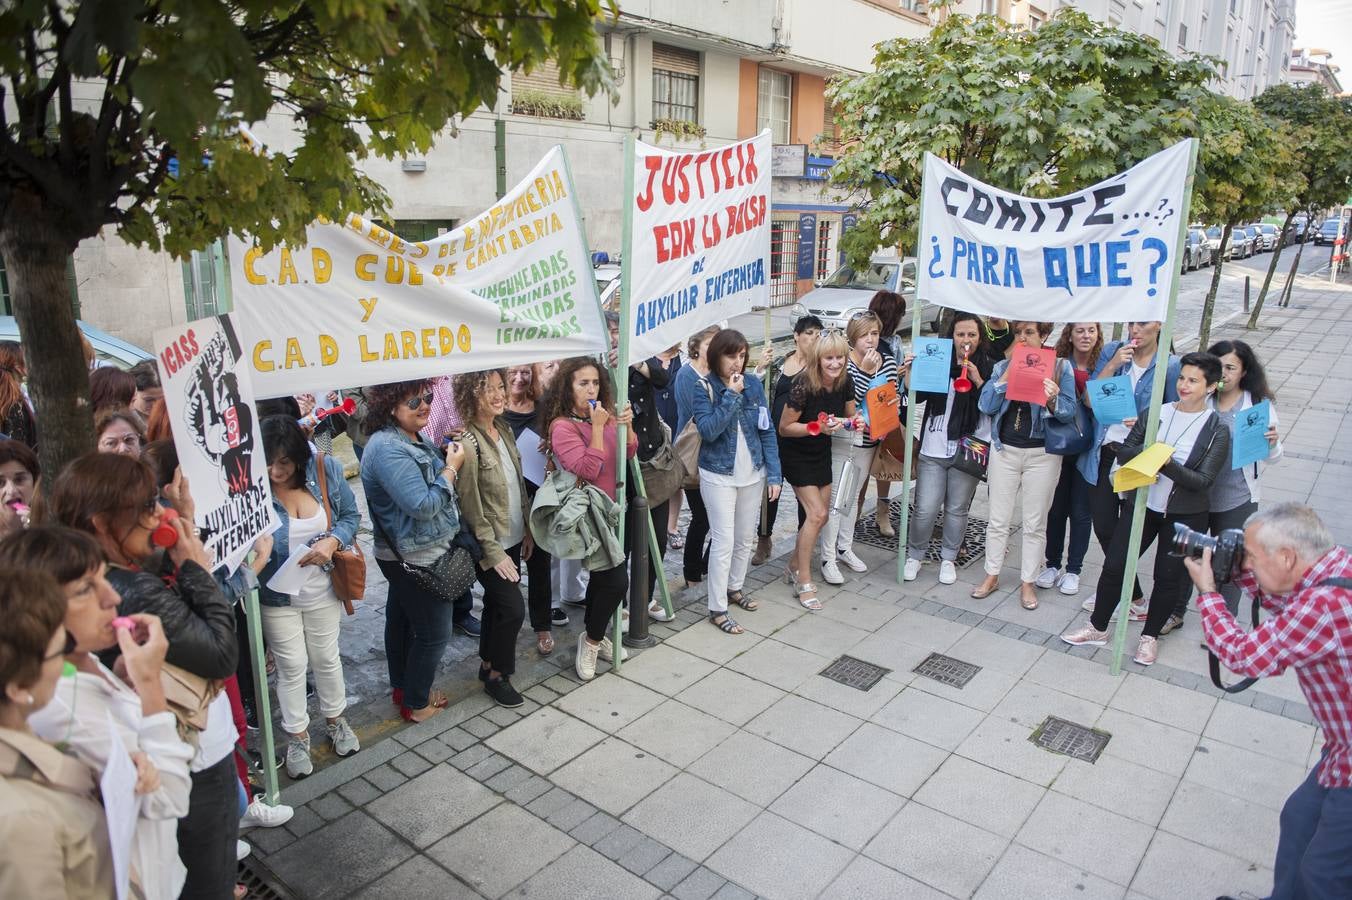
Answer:
[(831, 88), (845, 145), (831, 181), (861, 205), (841, 238), (856, 262), (913, 242), (926, 151), (1006, 191), (1068, 193), (1197, 134), (1214, 74), (1068, 8), (1037, 31), (950, 15), (880, 43), (873, 69)]

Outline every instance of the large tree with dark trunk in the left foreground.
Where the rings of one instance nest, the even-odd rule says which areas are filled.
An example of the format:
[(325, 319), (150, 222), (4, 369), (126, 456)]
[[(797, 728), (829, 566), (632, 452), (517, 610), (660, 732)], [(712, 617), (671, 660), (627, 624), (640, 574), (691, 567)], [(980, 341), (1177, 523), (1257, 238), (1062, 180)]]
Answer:
[[(266, 247), (319, 216), (380, 214), (368, 154), (426, 151), (556, 59), (610, 86), (595, 20), (614, 0), (19, 0), (0, 11), (0, 254), (55, 474), (92, 447), (65, 268), (108, 227), (184, 254), (228, 231)], [(238, 126), (284, 114), (293, 149)]]

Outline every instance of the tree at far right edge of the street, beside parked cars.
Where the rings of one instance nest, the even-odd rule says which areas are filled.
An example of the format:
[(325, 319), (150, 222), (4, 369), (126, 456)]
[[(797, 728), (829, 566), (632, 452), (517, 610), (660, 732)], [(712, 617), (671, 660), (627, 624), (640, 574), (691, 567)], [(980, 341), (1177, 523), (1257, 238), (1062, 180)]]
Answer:
[[(1297, 212), (1305, 212), (1309, 223), (1318, 211), (1343, 203), (1352, 192), (1352, 154), (1347, 151), (1347, 135), (1352, 132), (1352, 99), (1334, 97), (1322, 84), (1278, 84), (1255, 97), (1253, 105), (1282, 131), (1293, 135), (1295, 165), (1305, 178), (1305, 189), (1286, 208), (1286, 223), (1282, 226), (1284, 238)], [(1288, 281), (1301, 265), (1303, 250), (1302, 241), (1297, 245)], [(1263, 312), (1263, 300), (1272, 284), (1276, 261), (1278, 254), (1274, 253), (1257, 303), (1249, 315), (1248, 328), (1259, 327), (1259, 314)]]

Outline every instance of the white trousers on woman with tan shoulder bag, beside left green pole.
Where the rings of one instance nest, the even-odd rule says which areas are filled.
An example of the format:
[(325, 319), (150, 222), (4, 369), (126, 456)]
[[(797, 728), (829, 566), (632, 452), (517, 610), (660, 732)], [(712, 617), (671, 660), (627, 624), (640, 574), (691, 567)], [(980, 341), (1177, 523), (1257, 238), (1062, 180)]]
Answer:
[(347, 708), (347, 688), (342, 680), (342, 658), (338, 655), (338, 628), (342, 604), (320, 603), (315, 607), (260, 607), (262, 632), (268, 649), (277, 661), (277, 708), (281, 727), (288, 734), (310, 728), (306, 708), (306, 669), (315, 673), (315, 693), (319, 712), (334, 719)]

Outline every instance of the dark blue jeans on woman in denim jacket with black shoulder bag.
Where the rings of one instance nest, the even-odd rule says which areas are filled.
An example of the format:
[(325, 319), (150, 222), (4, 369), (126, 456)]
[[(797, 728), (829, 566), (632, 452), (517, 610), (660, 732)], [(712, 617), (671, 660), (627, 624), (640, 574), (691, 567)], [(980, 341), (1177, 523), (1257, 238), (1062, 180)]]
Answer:
[(437, 664), (450, 642), (452, 618), (461, 601), (445, 603), (437, 595), (423, 591), (397, 562), (376, 562), (389, 581), (389, 596), (385, 600), (385, 665), (389, 668), (389, 686), (403, 688), (406, 707), (422, 709), (431, 695)]

